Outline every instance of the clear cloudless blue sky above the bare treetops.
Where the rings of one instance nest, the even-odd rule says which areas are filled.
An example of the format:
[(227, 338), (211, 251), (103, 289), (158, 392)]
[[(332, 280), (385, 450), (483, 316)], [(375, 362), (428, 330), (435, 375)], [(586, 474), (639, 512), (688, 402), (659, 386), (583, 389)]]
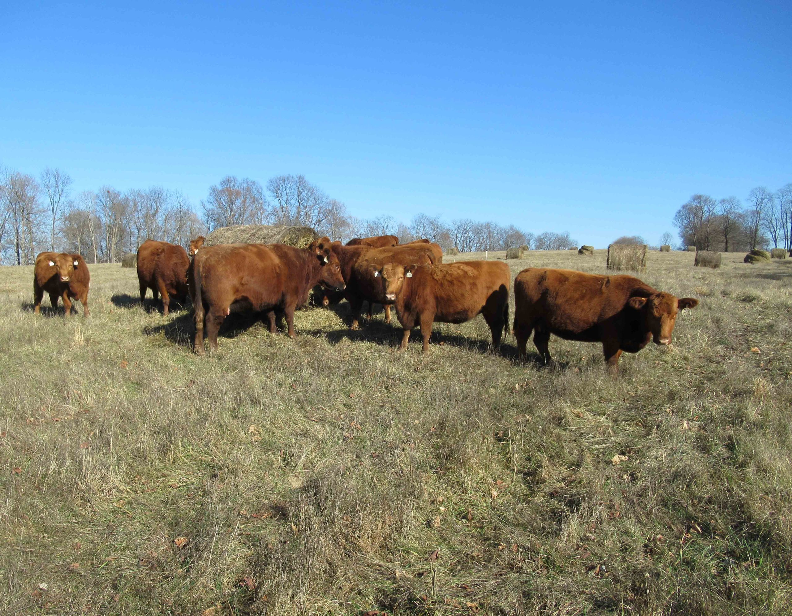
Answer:
[(789, 2), (3, 2), (0, 163), (650, 242), (792, 181)]

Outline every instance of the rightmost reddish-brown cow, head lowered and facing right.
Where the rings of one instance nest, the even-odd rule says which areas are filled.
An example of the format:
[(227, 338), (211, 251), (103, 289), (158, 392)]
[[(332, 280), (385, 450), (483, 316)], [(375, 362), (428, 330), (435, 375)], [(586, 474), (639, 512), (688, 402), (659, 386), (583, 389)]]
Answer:
[(514, 280), (514, 335), (520, 356), (534, 331), (545, 363), (554, 333), (565, 340), (601, 342), (612, 373), (623, 351), (637, 353), (653, 340), (671, 344), (679, 310), (699, 300), (676, 298), (633, 276), (600, 276), (569, 269), (528, 268)]

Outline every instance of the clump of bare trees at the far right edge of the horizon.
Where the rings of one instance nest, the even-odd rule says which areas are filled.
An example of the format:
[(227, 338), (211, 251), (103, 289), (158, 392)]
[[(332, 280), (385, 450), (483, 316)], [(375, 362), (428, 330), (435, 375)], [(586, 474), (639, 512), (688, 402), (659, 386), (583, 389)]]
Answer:
[(792, 250), (792, 184), (777, 192), (753, 188), (745, 205), (731, 196), (691, 196), (676, 212), (681, 245), (735, 252), (765, 248)]

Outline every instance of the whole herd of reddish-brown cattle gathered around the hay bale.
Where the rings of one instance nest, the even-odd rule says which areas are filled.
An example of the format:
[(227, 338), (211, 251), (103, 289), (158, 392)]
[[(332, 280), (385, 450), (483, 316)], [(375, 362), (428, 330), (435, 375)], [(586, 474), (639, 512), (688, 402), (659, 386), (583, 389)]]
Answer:
[[(443, 263), (440, 246), (428, 240), (399, 244), (385, 235), (356, 238), (342, 245), (329, 238), (307, 248), (281, 244), (179, 245), (147, 240), (138, 249), (140, 301), (147, 289), (162, 296), (163, 314), (171, 298), (195, 307), (195, 352), (204, 354), (204, 329), (212, 350), (217, 333), (231, 313), (252, 311), (267, 318), (276, 333), (276, 314), (283, 314), (294, 337), (294, 313), (310, 291), (324, 306), (345, 298), (352, 308), (351, 329), (359, 329), (360, 313), (376, 303), (396, 309), (406, 348), (410, 330), (421, 327), (428, 351), (432, 323), (463, 323), (482, 314), (493, 345), (508, 334), (511, 274), (503, 261), (470, 260)], [(58, 298), (69, 317), (71, 299), (78, 299), (86, 317), (89, 272), (79, 254), (40, 253), (33, 279), (35, 312), (44, 291), (53, 307)], [(649, 344), (670, 344), (679, 310), (693, 308), (695, 298), (676, 298), (632, 276), (598, 276), (565, 269), (527, 268), (514, 279), (513, 331), (520, 356), (526, 355), (531, 333), (540, 359), (550, 362), (550, 334), (566, 340), (600, 342), (611, 371), (618, 371), (622, 352), (635, 353)]]

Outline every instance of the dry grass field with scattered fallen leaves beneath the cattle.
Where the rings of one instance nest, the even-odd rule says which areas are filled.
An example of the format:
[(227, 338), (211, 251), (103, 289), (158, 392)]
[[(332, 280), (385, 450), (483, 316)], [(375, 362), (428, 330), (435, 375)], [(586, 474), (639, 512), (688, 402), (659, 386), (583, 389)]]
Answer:
[(0, 268), (0, 613), (792, 613), (792, 260), (694, 257), (649, 254), (701, 304), (618, 379), (482, 318), (399, 353), (345, 303), (202, 359), (132, 269), (91, 266), (64, 322)]

